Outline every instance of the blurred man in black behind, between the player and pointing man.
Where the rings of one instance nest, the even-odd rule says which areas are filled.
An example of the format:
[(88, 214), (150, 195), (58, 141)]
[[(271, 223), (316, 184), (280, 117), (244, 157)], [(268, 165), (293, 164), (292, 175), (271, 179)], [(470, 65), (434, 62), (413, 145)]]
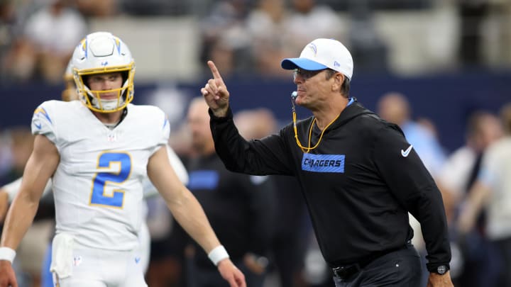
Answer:
[[(201, 203), (231, 260), (243, 271), (247, 286), (261, 287), (268, 266), (273, 188), (260, 179), (228, 171), (214, 150), (208, 106), (202, 97), (192, 100), (187, 121), (192, 148), (188, 188)], [(195, 246), (195, 244), (194, 244)], [(226, 286), (205, 252), (194, 248), (187, 260), (190, 287)]]

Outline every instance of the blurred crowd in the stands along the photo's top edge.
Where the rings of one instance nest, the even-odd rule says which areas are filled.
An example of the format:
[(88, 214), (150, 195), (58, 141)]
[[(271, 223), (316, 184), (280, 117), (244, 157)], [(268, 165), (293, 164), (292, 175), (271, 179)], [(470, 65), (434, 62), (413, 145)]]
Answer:
[[(482, 56), (488, 52), (482, 43), (488, 39), (483, 38), (485, 34), (505, 42), (499, 33), (506, 30), (498, 27), (507, 23), (510, 5), (501, 0), (2, 0), (0, 84), (34, 79), (56, 84), (75, 43), (92, 32), (90, 22), (122, 17), (196, 19), (197, 62), (204, 65), (205, 60), (214, 60), (226, 76), (237, 72), (281, 75), (279, 60), (296, 55), (319, 37), (347, 45), (358, 59), (357, 71), (383, 72), (388, 69), (390, 39), (377, 33), (374, 12), (427, 11), (439, 6), (457, 11), (452, 21), (461, 27), (454, 40), (460, 64), (487, 62)], [(491, 25), (498, 29), (490, 31)], [(446, 48), (435, 43), (436, 49)]]

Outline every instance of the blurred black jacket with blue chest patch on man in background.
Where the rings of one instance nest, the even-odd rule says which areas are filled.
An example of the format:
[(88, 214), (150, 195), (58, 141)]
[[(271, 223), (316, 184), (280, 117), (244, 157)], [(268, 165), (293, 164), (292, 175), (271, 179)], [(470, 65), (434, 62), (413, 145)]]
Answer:
[[(273, 188), (270, 182), (228, 171), (218, 155), (190, 159), (188, 188), (201, 203), (209, 223), (234, 262), (246, 253), (264, 255), (272, 236)], [(199, 249), (195, 262), (216, 270)]]

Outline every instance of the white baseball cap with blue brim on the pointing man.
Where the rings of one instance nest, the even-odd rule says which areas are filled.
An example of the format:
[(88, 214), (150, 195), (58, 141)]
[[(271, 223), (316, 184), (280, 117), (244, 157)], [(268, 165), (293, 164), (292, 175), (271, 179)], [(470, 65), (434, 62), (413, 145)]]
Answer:
[(282, 69), (334, 69), (351, 80), (353, 58), (341, 42), (334, 39), (319, 38), (307, 44), (300, 57), (287, 58), (280, 63)]

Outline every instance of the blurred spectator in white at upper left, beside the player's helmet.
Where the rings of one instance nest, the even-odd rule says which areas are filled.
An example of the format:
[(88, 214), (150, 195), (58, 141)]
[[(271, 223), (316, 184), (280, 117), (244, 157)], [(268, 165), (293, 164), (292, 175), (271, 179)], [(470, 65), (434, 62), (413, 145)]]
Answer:
[(87, 32), (87, 23), (70, 0), (50, 0), (26, 21), (23, 35), (6, 58), (9, 76), (18, 81), (41, 77), (60, 83), (76, 43)]

